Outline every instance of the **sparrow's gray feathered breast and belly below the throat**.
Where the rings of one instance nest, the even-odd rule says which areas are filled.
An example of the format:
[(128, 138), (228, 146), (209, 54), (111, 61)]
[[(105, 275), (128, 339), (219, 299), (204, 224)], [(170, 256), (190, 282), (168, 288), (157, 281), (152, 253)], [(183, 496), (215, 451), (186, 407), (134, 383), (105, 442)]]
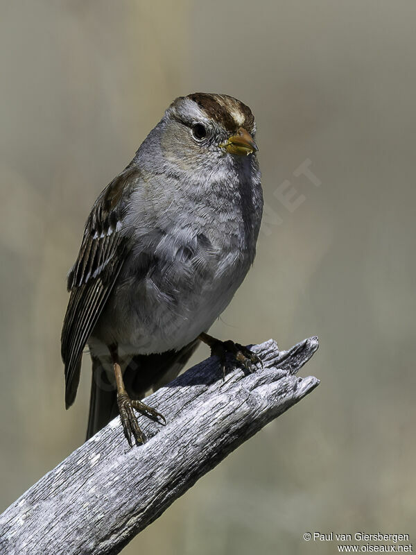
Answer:
[[(259, 172), (234, 185), (205, 182), (146, 189), (133, 198), (134, 246), (101, 321), (132, 352), (179, 349), (227, 307), (254, 260), (263, 200)], [(105, 329), (104, 329), (105, 328)], [(110, 332), (97, 330), (101, 340)], [(105, 333), (107, 332), (107, 333)]]

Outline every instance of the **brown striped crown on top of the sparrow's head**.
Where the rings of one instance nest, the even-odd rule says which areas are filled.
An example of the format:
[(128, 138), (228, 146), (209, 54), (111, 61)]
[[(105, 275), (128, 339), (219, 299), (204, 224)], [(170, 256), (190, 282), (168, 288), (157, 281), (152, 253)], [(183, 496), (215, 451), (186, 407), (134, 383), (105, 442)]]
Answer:
[[(208, 117), (221, 123), (228, 131), (236, 131), (239, 127), (252, 130), (254, 126), (254, 116), (248, 106), (241, 101), (234, 99), (226, 94), (208, 94), (206, 92), (194, 92), (188, 98), (196, 102)], [(234, 119), (232, 112), (240, 112), (244, 118), (243, 123)]]

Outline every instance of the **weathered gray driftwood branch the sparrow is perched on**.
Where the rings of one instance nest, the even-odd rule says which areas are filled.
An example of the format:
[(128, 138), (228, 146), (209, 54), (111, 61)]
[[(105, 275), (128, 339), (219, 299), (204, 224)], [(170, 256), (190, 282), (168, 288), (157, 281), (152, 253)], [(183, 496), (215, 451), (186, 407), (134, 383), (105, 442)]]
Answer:
[(288, 351), (252, 349), (254, 373), (222, 381), (211, 357), (159, 389), (148, 404), (166, 426), (140, 417), (148, 436), (130, 449), (119, 418), (48, 472), (0, 516), (0, 553), (116, 554), (206, 472), (319, 384), (296, 377), (318, 348), (312, 337)]

